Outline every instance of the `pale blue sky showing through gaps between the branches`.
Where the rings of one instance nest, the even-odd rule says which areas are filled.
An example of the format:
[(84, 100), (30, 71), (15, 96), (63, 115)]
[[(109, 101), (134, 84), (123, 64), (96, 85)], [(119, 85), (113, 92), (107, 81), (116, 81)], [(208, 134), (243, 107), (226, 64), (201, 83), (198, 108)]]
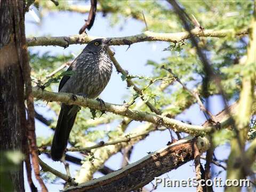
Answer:
[[(83, 26), (84, 19), (87, 18), (87, 14), (80, 13), (70, 13), (70, 12), (58, 12), (58, 13), (49, 13), (44, 15), (40, 23), (35, 22), (33, 14), (26, 14), (26, 36), (69, 36), (75, 35), (78, 33), (78, 30)], [(122, 29), (121, 29), (122, 28)], [(104, 36), (104, 37), (121, 37), (128, 35), (140, 34), (145, 28), (145, 24), (134, 19), (127, 19), (127, 22), (124, 26), (116, 25), (111, 27), (109, 25), (109, 20), (106, 17), (102, 17), (101, 13), (97, 14), (95, 18), (94, 25), (92, 29), (87, 33), (93, 36)], [(127, 46), (113, 46), (112, 49), (115, 51), (115, 57), (121, 66), (128, 70), (130, 74), (133, 75), (145, 75), (150, 76), (152, 73), (151, 66), (146, 66), (145, 63), (147, 60), (161, 61), (162, 58), (166, 57), (169, 52), (162, 50), (169, 46), (169, 43), (166, 42), (143, 42), (135, 43), (131, 45), (130, 49), (126, 51)], [(70, 45), (67, 49), (59, 46), (37, 46), (29, 47), (29, 50), (32, 52), (39, 51), (40, 54), (50, 51), (50, 54), (69, 54), (74, 53), (78, 55), (85, 45)], [(40, 65), (40, 63), (38, 63)], [(124, 100), (124, 95), (128, 94), (126, 89), (126, 82), (121, 80), (121, 75), (116, 73), (116, 70), (113, 71), (110, 82), (108, 83), (106, 89), (100, 95), (100, 98), (106, 102), (122, 104)], [(213, 96), (210, 98), (210, 110), (213, 114), (217, 114), (220, 110), (223, 109), (223, 106), (219, 105), (221, 98), (219, 96)], [(49, 112), (45, 106), (36, 107), (38, 113), (44, 115), (47, 118), (52, 118), (54, 113)], [(193, 124), (200, 125), (205, 122), (205, 117), (200, 111), (198, 105), (193, 105), (189, 109), (185, 110), (182, 114), (176, 117), (179, 120), (190, 121)], [(128, 131), (131, 131), (137, 127), (140, 123), (133, 122)], [(111, 126), (116, 126), (111, 124)], [(104, 127), (104, 126), (103, 126)], [(106, 126), (105, 126), (106, 127)], [(53, 131), (49, 127), (45, 126), (41, 122), (36, 120), (36, 134), (37, 136), (50, 136), (53, 134)], [(169, 131), (162, 132), (153, 132), (145, 139), (140, 141), (137, 145), (134, 146), (130, 162), (133, 163), (138, 161), (140, 158), (145, 157), (148, 151), (155, 151), (166, 146), (166, 143), (170, 141)], [(215, 150), (215, 154), (220, 159), (225, 159), (229, 155), (229, 146), (223, 145), (218, 147)], [(43, 161), (50, 166), (53, 166), (55, 169), (65, 173), (63, 165), (59, 162), (53, 162), (51, 159), (41, 155)], [(111, 169), (117, 170), (121, 168), (122, 154), (117, 153), (112, 156), (107, 162), (106, 166), (109, 166)], [(204, 161), (202, 161), (204, 163)], [(71, 174), (75, 177), (76, 170), (79, 169), (79, 166), (71, 164), (70, 166)], [(222, 169), (220, 167), (213, 165), (214, 172), (218, 173)], [(101, 173), (95, 173), (94, 178), (101, 177)], [(170, 179), (185, 179), (189, 177), (195, 177), (195, 170), (193, 161), (188, 162), (187, 164), (179, 167), (177, 170), (173, 170), (169, 173), (165, 173), (161, 176), (162, 178)], [(225, 173), (221, 173), (218, 177), (222, 179), (225, 178)], [(26, 177), (25, 177), (26, 178)], [(35, 178), (34, 178), (35, 180)], [(46, 183), (49, 191), (59, 191), (63, 188), (62, 180), (59, 180), (58, 183)], [(38, 184), (38, 183), (37, 183)], [(38, 185), (37, 185), (38, 186)], [(146, 186), (146, 188), (151, 189), (152, 185)], [(26, 181), (26, 191), (29, 191), (29, 186)], [(195, 188), (163, 188), (161, 186), (157, 187), (155, 191), (195, 191)], [(223, 191), (223, 188), (215, 188), (215, 191)]]

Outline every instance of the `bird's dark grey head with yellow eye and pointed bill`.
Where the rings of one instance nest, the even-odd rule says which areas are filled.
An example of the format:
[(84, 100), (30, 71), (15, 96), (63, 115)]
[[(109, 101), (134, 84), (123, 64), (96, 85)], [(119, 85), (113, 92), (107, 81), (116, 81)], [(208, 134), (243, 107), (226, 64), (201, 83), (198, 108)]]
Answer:
[(107, 38), (107, 39), (103, 39), (103, 38), (98, 38), (98, 39), (94, 39), (93, 41), (89, 42), (86, 47), (85, 50), (95, 53), (98, 51), (103, 50), (107, 50), (107, 47), (109, 46), (109, 42), (111, 41), (111, 38)]

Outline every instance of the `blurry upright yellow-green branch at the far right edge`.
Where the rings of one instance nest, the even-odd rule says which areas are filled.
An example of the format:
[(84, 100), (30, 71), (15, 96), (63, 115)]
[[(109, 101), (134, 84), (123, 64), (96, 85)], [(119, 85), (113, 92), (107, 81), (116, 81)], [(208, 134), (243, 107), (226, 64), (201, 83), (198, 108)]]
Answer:
[[(227, 178), (243, 179), (250, 172), (252, 162), (245, 156), (245, 143), (247, 141), (248, 126), (252, 115), (256, 80), (256, 13), (251, 23), (250, 43), (247, 47), (247, 60), (245, 67), (253, 65), (252, 71), (242, 73), (242, 90), (238, 102), (238, 111), (235, 119), (236, 136), (230, 141), (230, 155), (228, 158)], [(245, 70), (246, 71), (246, 70)], [(241, 143), (241, 145), (238, 145)], [(226, 187), (225, 191), (234, 191), (240, 188)]]

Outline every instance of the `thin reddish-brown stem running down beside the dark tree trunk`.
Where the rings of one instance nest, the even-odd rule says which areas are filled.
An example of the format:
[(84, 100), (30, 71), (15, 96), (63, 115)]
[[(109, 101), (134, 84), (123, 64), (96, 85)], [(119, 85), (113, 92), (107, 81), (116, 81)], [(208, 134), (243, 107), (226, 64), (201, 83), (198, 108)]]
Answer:
[[(14, 6), (14, 8), (15, 8), (15, 6)], [(23, 78), (23, 81), (25, 84), (25, 98), (24, 99), (26, 99), (26, 102), (27, 102), (27, 122), (26, 122), (26, 126), (23, 128), (26, 130), (26, 134), (27, 134), (27, 144), (28, 144), (28, 148), (29, 148), (29, 153), (31, 155), (31, 162), (33, 165), (35, 177), (36, 177), (37, 181), (39, 182), (39, 185), (41, 186), (41, 190), (43, 192), (46, 192), (48, 190), (47, 190), (47, 187), (45, 186), (43, 179), (40, 177), (39, 164), (38, 164), (39, 157), (38, 157), (38, 150), (37, 150), (37, 146), (36, 146), (34, 97), (32, 95), (32, 85), (31, 85), (31, 77), (30, 77), (31, 67), (29, 66), (28, 46), (27, 46), (26, 34), (25, 34), (25, 13), (23, 12), (25, 10), (24, 10), (24, 6), (22, 3), (19, 4), (17, 8), (18, 8), (18, 10), (15, 10), (15, 9), (14, 10), (17, 11), (17, 15), (20, 14), (19, 15), (20, 17), (18, 17), (18, 16), (14, 17), (14, 21), (15, 21), (14, 25), (17, 25), (17, 23), (20, 23), (20, 24), (15, 26), (14, 30), (15, 30), (15, 34), (19, 34), (19, 37), (18, 37), (20, 39), (19, 46), (22, 47), (21, 50), (19, 50), (19, 48), (17, 50), (19, 50), (18, 55), (21, 58), (20, 59), (21, 62), (19, 63), (19, 65), (22, 70), (22, 78)], [(15, 37), (15, 38), (17, 38), (17, 37)], [(19, 114), (17, 114), (17, 116), (18, 115)], [(28, 155), (28, 151), (26, 151), (26, 153)], [(27, 156), (27, 158), (30, 158), (30, 157)], [(29, 159), (26, 159), (26, 163), (29, 163), (29, 162), (30, 162)], [(28, 167), (28, 166), (29, 165), (26, 165), (26, 167)], [(29, 167), (28, 171), (31, 171), (30, 167)], [(29, 172), (28, 175), (29, 175), (28, 180), (30, 180), (31, 172)], [(30, 184), (33, 184), (33, 183), (30, 183)], [(37, 191), (34, 184), (30, 185), (30, 187), (31, 187), (30, 188), (31, 190)]]

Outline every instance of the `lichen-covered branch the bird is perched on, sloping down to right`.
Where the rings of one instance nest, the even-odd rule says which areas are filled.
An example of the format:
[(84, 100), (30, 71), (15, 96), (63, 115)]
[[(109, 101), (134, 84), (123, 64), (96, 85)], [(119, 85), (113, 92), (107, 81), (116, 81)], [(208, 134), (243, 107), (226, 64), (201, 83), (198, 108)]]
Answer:
[(76, 96), (77, 99), (74, 101), (71, 99), (74, 98), (72, 97), (74, 95), (70, 93), (54, 93), (36, 87), (33, 89), (33, 95), (37, 99), (43, 99), (46, 101), (60, 101), (69, 105), (78, 105), (97, 110), (109, 111), (117, 115), (129, 117), (131, 119), (134, 119), (135, 121), (146, 121), (157, 125), (169, 127), (174, 131), (185, 132), (191, 135), (202, 135), (213, 130), (212, 126), (203, 127), (199, 125), (190, 125), (169, 117), (150, 114), (138, 110), (132, 110), (127, 108), (125, 105), (114, 105), (106, 102), (105, 105), (102, 106), (97, 100), (83, 98), (78, 95)]

